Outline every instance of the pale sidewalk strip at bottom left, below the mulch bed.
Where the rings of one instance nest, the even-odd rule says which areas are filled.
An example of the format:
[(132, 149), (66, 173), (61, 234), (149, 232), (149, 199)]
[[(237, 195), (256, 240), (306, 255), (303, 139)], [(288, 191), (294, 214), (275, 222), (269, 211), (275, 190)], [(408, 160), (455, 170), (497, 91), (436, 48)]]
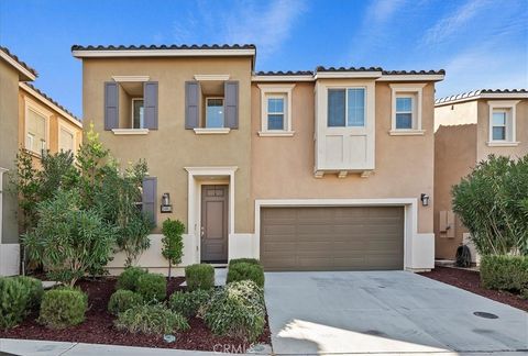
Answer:
[[(150, 348), (150, 347), (132, 347), (132, 346), (117, 346), (117, 345), (98, 345), (98, 344), (82, 344), (82, 343), (63, 343), (50, 341), (33, 341), (33, 340), (16, 340), (16, 338), (0, 338), (0, 355), (24, 355), (24, 356), (143, 356), (143, 355), (160, 355), (160, 356), (212, 356), (212, 355), (229, 355), (221, 354), (222, 346), (219, 346), (219, 352), (197, 352), (183, 351), (170, 348)], [(233, 351), (237, 352), (237, 351)], [(240, 351), (239, 351), (240, 352)], [(7, 353), (7, 355), (2, 354)], [(238, 354), (240, 355), (240, 354)], [(248, 354), (246, 354), (248, 355)], [(252, 354), (255, 355), (255, 354)]]

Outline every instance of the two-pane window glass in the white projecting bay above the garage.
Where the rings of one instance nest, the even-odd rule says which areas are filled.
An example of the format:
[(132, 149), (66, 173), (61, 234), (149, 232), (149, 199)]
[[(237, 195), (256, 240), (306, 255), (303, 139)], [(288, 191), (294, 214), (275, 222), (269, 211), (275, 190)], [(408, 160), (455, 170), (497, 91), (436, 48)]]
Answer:
[(328, 89), (328, 126), (365, 126), (365, 89)]

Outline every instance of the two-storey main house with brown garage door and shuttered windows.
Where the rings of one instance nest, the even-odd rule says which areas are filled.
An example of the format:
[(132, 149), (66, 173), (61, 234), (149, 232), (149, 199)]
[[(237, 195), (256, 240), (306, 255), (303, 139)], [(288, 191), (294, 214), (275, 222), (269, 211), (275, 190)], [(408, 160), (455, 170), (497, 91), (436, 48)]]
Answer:
[(180, 266), (433, 267), (443, 70), (255, 74), (253, 45), (72, 49), (84, 118), (118, 159), (148, 164), (143, 209), (157, 227), (140, 265), (165, 271), (160, 226), (172, 218), (187, 226)]

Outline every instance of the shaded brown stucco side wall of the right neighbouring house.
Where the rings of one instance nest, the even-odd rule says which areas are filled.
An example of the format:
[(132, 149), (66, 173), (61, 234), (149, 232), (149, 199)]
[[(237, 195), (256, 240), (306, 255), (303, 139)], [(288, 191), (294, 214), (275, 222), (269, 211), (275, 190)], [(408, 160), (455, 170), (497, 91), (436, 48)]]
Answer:
[(454, 237), (440, 233), (440, 211), (452, 210), (452, 186), (471, 173), (476, 162), (476, 123), (441, 125), (435, 133), (435, 255), (453, 259), (466, 232), (455, 219)]

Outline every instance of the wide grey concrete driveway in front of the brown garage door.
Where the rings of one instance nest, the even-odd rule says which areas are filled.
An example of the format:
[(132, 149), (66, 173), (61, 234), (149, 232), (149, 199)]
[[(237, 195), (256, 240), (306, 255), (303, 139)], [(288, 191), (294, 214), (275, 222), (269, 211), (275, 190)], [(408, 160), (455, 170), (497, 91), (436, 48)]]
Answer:
[(413, 272), (267, 272), (265, 298), (275, 354), (528, 353), (528, 313)]

